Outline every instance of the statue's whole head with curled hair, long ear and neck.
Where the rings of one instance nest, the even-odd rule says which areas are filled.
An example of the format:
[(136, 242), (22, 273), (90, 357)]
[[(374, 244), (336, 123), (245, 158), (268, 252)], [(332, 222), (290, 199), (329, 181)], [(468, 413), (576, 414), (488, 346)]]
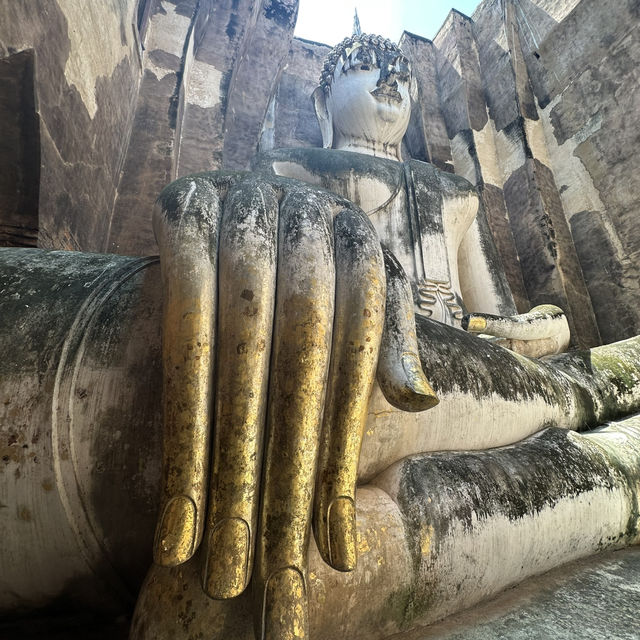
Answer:
[(323, 146), (399, 160), (410, 84), (398, 45), (368, 34), (345, 38), (329, 53), (313, 93)]

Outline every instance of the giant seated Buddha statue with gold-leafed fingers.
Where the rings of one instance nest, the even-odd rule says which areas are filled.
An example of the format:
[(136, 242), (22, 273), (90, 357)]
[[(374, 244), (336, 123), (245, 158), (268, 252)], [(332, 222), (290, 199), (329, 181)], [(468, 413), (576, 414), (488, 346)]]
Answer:
[[(111, 395), (113, 371), (137, 372), (120, 380), (127, 400), (101, 429), (116, 422), (118, 442), (138, 446), (162, 433), (162, 479), (138, 462), (108, 493), (130, 513), (120, 505), (135, 503), (134, 479), (162, 485), (132, 638), (382, 638), (640, 539), (640, 341), (560, 353), (561, 310), (515, 315), (473, 187), (401, 161), (410, 94), (396, 45), (348, 38), (314, 94), (325, 149), (264, 153), (251, 172), (187, 176), (163, 191), (161, 285), (136, 275), (147, 263), (79, 256), (80, 273), (73, 258), (47, 258), (79, 300), (73, 283), (92, 290), (120, 269), (117, 286), (100, 285), (108, 296), (78, 302), (81, 320), (102, 307), (86, 327), (74, 322), (62, 353), (77, 363), (97, 349), (91, 371), (111, 372)], [(13, 291), (27, 258), (5, 260)], [(163, 416), (143, 431), (120, 416), (158, 380), (144, 356), (157, 337), (141, 327), (160, 323), (160, 288)], [(39, 309), (52, 304), (36, 297)], [(79, 336), (110, 322), (120, 328), (108, 348)], [(104, 465), (99, 447), (82, 445), (102, 437), (91, 416), (107, 412), (77, 408), (79, 366), (51, 385), (56, 398), (72, 389), (76, 407), (51, 436), (56, 478), (67, 440), (69, 474), (89, 463), (79, 447)], [(107, 395), (89, 393), (94, 404)], [(141, 447), (140, 459), (155, 451)], [(85, 532), (74, 504), (100, 511), (104, 486), (76, 500), (62, 484), (70, 530)], [(129, 522), (126, 536), (110, 529), (94, 546), (113, 558), (150, 547), (146, 527)]]

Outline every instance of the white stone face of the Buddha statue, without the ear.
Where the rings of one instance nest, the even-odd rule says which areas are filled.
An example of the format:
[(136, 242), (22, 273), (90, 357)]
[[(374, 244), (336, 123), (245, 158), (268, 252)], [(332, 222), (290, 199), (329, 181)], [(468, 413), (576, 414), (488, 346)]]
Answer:
[(327, 96), (334, 143), (399, 145), (411, 114), (410, 81), (409, 62), (401, 53), (366, 45), (353, 49), (336, 65)]

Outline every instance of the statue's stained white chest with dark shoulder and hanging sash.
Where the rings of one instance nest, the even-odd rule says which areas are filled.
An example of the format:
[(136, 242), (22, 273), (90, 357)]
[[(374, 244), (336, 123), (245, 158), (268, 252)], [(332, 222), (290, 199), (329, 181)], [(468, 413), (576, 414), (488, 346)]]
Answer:
[(468, 183), (461, 187), (455, 176), (422, 162), (326, 149), (287, 154), (276, 173), (333, 191), (367, 214), (409, 277), (417, 313), (460, 324), (458, 250), (476, 213)]

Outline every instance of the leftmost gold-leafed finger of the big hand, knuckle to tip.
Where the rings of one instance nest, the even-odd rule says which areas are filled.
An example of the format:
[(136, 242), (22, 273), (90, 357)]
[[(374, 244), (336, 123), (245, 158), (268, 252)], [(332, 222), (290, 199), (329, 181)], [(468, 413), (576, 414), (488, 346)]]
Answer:
[(186, 562), (202, 538), (215, 329), (220, 199), (211, 183), (170, 185), (154, 211), (163, 301), (163, 500), (153, 556)]

